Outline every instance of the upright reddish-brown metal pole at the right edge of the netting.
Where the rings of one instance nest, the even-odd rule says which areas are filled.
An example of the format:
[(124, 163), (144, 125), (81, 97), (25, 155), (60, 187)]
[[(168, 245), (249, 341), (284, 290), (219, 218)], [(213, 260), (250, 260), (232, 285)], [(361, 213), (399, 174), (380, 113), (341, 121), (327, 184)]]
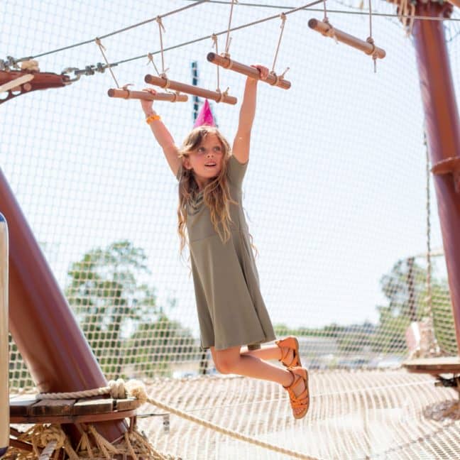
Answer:
[[(448, 17), (450, 4), (417, 2), (417, 16)], [(433, 168), (459, 156), (460, 122), (442, 21), (415, 19), (414, 36), (425, 126)], [(450, 174), (434, 175), (439, 221), (449, 276), (457, 346), (460, 349), (460, 194)]]

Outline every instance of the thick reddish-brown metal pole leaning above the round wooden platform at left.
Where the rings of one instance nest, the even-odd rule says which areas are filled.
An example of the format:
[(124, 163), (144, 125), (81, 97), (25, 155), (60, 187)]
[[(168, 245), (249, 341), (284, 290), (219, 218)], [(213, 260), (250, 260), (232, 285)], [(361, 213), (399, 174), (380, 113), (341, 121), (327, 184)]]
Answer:
[[(9, 327), (40, 393), (89, 390), (106, 379), (0, 170), (0, 211), (9, 226)], [(97, 424), (109, 441), (122, 421)]]

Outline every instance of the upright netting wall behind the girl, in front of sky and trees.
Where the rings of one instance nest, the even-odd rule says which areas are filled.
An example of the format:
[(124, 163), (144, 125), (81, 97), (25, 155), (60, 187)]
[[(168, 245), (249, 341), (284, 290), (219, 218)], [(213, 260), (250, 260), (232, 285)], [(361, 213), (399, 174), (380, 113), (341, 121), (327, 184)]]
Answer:
[[(6, 1), (2, 53), (38, 55), (187, 3), (119, 0), (103, 9), (90, 1)], [(233, 25), (288, 8), (278, 3), (240, 2)], [(336, 28), (366, 40), (367, 16), (332, 12), (356, 13), (358, 4), (330, 1), (328, 8)], [(394, 13), (383, 2), (373, 11)], [(259, 84), (243, 184), (275, 332), (299, 337), (311, 369), (386, 369), (407, 357), (410, 324), (432, 316), (439, 349), (456, 355), (432, 185), (430, 243), (436, 254), (431, 286), (426, 282), (427, 165), (411, 40), (397, 19), (374, 17), (373, 37), (387, 52), (374, 74), (370, 57), (311, 31), (311, 17), (321, 19), (321, 10), (298, 11), (285, 25), (275, 70), (290, 67), (292, 88)], [(229, 4), (212, 2), (163, 18), (165, 48), (177, 45), (165, 52), (168, 77), (191, 84), (196, 62), (199, 86), (216, 89), (216, 68), (206, 61), (209, 35), (225, 31), (228, 18)], [(234, 31), (231, 57), (270, 67), (279, 27), (276, 18)], [(454, 82), (460, 71), (457, 29), (447, 23)], [(219, 36), (219, 50), (224, 38)], [(157, 23), (102, 44), (109, 62), (145, 56), (114, 67), (120, 84), (141, 89), (144, 75), (155, 74), (146, 55), (160, 50)], [(158, 53), (154, 59), (161, 67)], [(57, 73), (104, 62), (96, 43), (38, 60), (41, 70)], [(220, 82), (241, 102), (244, 77), (221, 70)], [(111, 87), (109, 72), (96, 72), (2, 104), (0, 166), (107, 378), (214, 373), (199, 347), (188, 253), (181, 259), (178, 251), (177, 182), (140, 104), (110, 99)], [(238, 106), (211, 105), (232, 140)], [(193, 124), (192, 99), (155, 108), (180, 143)], [(13, 341), (10, 384), (33, 385)]]

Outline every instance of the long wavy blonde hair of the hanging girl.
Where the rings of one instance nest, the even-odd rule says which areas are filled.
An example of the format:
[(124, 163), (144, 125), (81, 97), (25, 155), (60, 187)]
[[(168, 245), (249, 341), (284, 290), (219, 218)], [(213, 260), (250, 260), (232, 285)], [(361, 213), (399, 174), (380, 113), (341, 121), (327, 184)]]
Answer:
[[(229, 224), (232, 221), (230, 215), (230, 203), (238, 205), (238, 202), (231, 199), (229, 184), (226, 180), (226, 170), (229, 163), (231, 148), (229, 142), (222, 136), (217, 128), (213, 126), (198, 126), (193, 129), (185, 138), (179, 150), (179, 158), (188, 158), (190, 152), (196, 150), (208, 134), (214, 134), (219, 139), (222, 148), (222, 168), (217, 177), (214, 177), (209, 184), (204, 187), (204, 204), (209, 207), (211, 221), (214, 229), (219, 234), (223, 243), (230, 239)], [(199, 187), (195, 180), (192, 170), (181, 166), (179, 179), (179, 206), (177, 207), (177, 218), (179, 220), (177, 232), (180, 236), (180, 253), (187, 243), (185, 229), (187, 228), (187, 207), (197, 198)], [(220, 225), (219, 225), (220, 224)], [(221, 228), (220, 228), (221, 226)]]

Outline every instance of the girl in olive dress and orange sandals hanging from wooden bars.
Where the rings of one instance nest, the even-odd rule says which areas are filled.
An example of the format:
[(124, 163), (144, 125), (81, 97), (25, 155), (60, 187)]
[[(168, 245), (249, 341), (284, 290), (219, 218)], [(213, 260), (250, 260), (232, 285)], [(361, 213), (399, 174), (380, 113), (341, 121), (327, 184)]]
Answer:
[[(254, 65), (261, 79), (268, 69)], [(146, 121), (179, 181), (178, 232), (185, 228), (197, 300), (202, 349), (211, 349), (220, 373), (278, 382), (288, 390), (295, 418), (307, 413), (308, 373), (301, 367), (297, 339), (275, 345), (270, 317), (260, 292), (258, 271), (243, 214), (241, 185), (248, 166), (258, 80), (248, 77), (233, 147), (214, 126), (198, 126), (177, 148), (168, 129), (141, 101)], [(155, 94), (155, 90), (146, 89)], [(244, 346), (244, 347), (243, 347)], [(266, 362), (278, 359), (286, 367)]]

